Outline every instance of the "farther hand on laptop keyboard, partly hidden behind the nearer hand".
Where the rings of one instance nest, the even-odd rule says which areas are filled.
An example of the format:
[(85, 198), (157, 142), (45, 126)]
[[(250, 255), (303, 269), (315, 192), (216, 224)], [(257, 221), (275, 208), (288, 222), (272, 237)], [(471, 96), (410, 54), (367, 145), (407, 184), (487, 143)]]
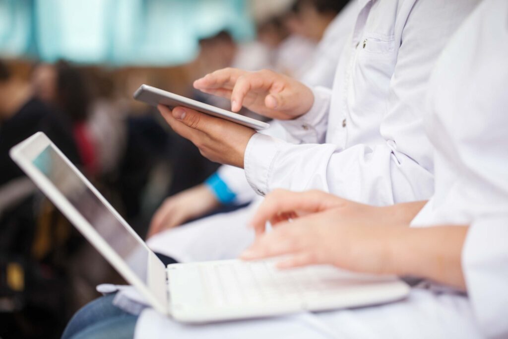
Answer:
[[(338, 199), (320, 191), (291, 192), (287, 190), (274, 190), (265, 197), (263, 203), (259, 206), (254, 217), (250, 221), (250, 227), (258, 233), (265, 229), (267, 221), (277, 222), (281, 213), (292, 213), (294, 218), (298, 217), (295, 211), (312, 213), (323, 210), (327, 206), (326, 200)], [(329, 204), (329, 203), (328, 203)]]

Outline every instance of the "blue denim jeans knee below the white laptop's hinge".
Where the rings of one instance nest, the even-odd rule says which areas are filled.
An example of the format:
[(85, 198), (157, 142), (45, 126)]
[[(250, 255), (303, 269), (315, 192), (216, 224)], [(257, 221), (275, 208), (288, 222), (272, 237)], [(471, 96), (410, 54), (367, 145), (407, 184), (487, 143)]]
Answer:
[(72, 317), (61, 339), (132, 339), (138, 316), (113, 305), (114, 294), (86, 304)]

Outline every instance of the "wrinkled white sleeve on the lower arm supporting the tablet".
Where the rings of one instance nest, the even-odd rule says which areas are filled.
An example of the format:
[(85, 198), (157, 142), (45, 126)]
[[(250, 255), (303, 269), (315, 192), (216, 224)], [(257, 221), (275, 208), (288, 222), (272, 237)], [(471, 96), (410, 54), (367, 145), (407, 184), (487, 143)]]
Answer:
[[(424, 199), (432, 191), (432, 177), (408, 157), (388, 145), (359, 144), (343, 151), (334, 144), (293, 145), (256, 134), (245, 151), (245, 174), (260, 195), (276, 188), (292, 191), (319, 189), (346, 199), (387, 205), (394, 190), (401, 201)], [(427, 180), (408, 180), (420, 173)]]

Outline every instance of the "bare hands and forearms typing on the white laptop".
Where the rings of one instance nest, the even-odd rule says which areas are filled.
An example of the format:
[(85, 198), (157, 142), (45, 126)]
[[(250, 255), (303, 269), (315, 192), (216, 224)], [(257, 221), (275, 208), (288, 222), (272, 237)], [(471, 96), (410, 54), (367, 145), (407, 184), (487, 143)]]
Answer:
[[(288, 259), (279, 263), (281, 268), (332, 264), (365, 273), (416, 275), (465, 289), (461, 253), (468, 227), (407, 227), (424, 203), (375, 207), (319, 191), (276, 191), (253, 218), (260, 236), (242, 258), (283, 255)], [(274, 230), (261, 234), (267, 221)]]

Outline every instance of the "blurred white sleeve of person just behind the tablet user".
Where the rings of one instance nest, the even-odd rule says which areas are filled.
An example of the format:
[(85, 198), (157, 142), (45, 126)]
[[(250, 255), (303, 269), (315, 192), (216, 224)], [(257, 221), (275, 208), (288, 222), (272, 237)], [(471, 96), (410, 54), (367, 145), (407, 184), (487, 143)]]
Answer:
[(315, 48), (311, 66), (299, 78), (301, 82), (307, 86), (331, 87), (333, 85), (340, 54), (354, 28), (357, 14), (358, 6), (352, 0), (330, 22), (323, 38)]

